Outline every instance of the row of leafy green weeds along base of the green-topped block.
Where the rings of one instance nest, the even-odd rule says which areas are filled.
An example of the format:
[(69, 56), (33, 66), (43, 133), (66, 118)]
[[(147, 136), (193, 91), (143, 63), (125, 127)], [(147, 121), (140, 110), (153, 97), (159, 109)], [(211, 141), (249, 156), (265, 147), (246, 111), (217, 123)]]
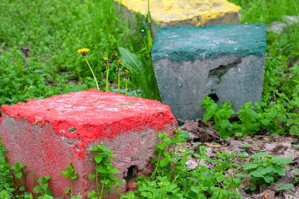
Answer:
[[(262, 108), (265, 105), (264, 102), (261, 104), (255, 103), (255, 105), (248, 102), (238, 112), (235, 112), (231, 108), (233, 102), (224, 102), (223, 105), (218, 106), (208, 96), (200, 105), (206, 108), (203, 116), (204, 122), (212, 118), (215, 129), (219, 131), (220, 137), (224, 139), (233, 135), (242, 137), (247, 134), (255, 134), (261, 129), (269, 130), (272, 135), (286, 134), (287, 132), (292, 135), (299, 135), (299, 116), (295, 114), (298, 110), (297, 107), (299, 107), (299, 98), (297, 94), (294, 94), (293, 97), (293, 100), (289, 100), (291, 103), (289, 112), (293, 111), (293, 113), (286, 113), (281, 104), (270, 108)], [(239, 120), (230, 122), (230, 116), (233, 114), (238, 114)]]

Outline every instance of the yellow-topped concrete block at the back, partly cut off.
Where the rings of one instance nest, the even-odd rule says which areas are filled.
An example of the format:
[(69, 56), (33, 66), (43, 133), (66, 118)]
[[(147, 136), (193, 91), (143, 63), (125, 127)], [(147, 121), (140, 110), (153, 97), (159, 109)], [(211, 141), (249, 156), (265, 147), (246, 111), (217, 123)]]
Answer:
[[(115, 0), (123, 19), (134, 20), (136, 13), (147, 16), (147, 0)], [(227, 0), (150, 0), (150, 15), (158, 27), (200, 26), (240, 23), (240, 6)]]

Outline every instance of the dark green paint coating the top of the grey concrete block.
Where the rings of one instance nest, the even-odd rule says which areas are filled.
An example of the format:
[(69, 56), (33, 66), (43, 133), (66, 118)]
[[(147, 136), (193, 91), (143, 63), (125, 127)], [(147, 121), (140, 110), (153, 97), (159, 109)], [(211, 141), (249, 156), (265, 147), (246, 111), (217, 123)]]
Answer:
[(181, 63), (231, 54), (237, 57), (263, 57), (265, 49), (265, 24), (165, 27), (156, 32), (152, 59), (168, 58)]

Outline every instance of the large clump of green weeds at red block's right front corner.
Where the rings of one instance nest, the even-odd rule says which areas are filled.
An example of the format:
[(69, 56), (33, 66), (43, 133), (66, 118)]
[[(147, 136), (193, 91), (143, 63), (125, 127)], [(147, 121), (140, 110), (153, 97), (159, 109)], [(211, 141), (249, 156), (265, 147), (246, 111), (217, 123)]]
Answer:
[[(149, 178), (138, 177), (138, 190), (122, 195), (121, 199), (240, 198), (236, 188), (241, 182), (233, 173), (233, 167), (239, 166), (232, 162), (235, 154), (217, 153), (218, 159), (211, 160), (205, 155), (204, 146), (199, 146), (199, 154), (194, 153), (194, 149), (181, 147), (188, 138), (187, 133), (177, 130), (174, 134), (175, 137), (169, 138), (166, 133), (158, 133), (161, 142), (155, 150), (157, 158), (151, 161), (155, 165), (152, 175)], [(188, 168), (185, 163), (192, 157), (213, 162), (216, 166), (211, 170), (200, 164), (196, 168)], [(231, 171), (231, 177), (227, 176), (227, 170)]]

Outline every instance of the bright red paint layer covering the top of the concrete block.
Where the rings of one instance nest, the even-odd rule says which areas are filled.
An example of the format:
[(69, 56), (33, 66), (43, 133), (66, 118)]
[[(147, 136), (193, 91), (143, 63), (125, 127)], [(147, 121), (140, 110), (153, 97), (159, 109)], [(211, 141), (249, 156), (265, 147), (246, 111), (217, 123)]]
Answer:
[[(130, 103), (134, 101), (135, 103)], [(126, 105), (119, 105), (127, 103)], [(55, 132), (68, 139), (80, 139), (77, 156), (84, 159), (84, 149), (90, 141), (114, 139), (122, 132), (142, 131), (149, 127), (158, 131), (172, 123), (174, 116), (169, 106), (159, 101), (128, 97), (95, 89), (42, 100), (29, 100), (15, 105), (1, 106), (3, 116), (26, 118), (31, 123), (52, 124)], [(176, 122), (176, 121), (175, 121)], [(76, 128), (69, 133), (69, 128)]]

